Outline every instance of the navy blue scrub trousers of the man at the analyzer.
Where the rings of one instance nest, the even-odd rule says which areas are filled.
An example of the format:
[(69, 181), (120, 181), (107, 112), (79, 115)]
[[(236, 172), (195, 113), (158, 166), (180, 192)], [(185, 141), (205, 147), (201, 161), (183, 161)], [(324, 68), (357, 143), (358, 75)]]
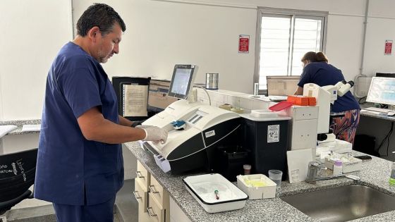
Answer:
[(115, 197), (95, 205), (54, 204), (58, 222), (113, 222)]

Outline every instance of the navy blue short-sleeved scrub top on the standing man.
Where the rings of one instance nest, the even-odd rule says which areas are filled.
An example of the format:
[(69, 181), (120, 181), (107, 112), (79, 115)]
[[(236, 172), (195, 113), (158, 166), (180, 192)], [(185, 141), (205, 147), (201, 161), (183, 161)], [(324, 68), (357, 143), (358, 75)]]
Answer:
[(77, 118), (97, 106), (119, 123), (114, 88), (102, 66), (73, 42), (47, 77), (35, 178), (35, 198), (56, 204), (106, 202), (123, 185), (121, 144), (86, 140)]

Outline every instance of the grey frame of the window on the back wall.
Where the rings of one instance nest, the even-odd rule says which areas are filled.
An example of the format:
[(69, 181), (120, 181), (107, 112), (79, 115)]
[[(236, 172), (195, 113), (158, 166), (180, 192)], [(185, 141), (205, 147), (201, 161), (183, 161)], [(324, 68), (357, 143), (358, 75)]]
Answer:
[[(288, 54), (288, 73), (291, 73), (293, 58), (290, 58), (293, 54), (293, 35), (294, 35), (294, 20), (296, 18), (308, 18), (308, 19), (321, 19), (322, 18), (322, 41), (321, 48), (322, 52), (325, 53), (327, 45), (327, 23), (328, 15), (327, 11), (300, 11), (292, 9), (281, 9), (281, 8), (267, 8), (258, 7), (257, 8), (257, 27), (256, 27), (256, 38), (255, 38), (255, 71), (253, 82), (259, 82), (260, 79), (260, 44), (261, 44), (261, 30), (262, 30), (262, 16), (273, 16), (273, 17), (286, 17), (291, 16), (291, 30), (290, 30), (290, 41), (289, 41), (289, 54)], [(291, 65), (290, 65), (291, 64)], [(288, 74), (287, 75), (291, 75)], [(299, 74), (300, 75), (300, 74)], [(258, 90), (258, 94), (266, 94), (267, 90)]]

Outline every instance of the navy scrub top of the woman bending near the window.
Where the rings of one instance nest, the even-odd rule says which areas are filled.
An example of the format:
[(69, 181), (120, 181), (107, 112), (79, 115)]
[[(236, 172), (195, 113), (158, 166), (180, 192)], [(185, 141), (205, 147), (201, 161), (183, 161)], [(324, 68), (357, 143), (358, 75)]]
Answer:
[[(322, 87), (325, 85), (336, 85), (337, 82), (342, 80), (344, 80), (344, 76), (338, 68), (325, 62), (308, 63), (303, 68), (298, 86), (303, 87), (306, 83), (315, 83)], [(343, 97), (338, 96), (331, 106), (331, 111), (334, 113), (353, 109), (360, 109), (360, 106), (351, 92), (347, 92)]]

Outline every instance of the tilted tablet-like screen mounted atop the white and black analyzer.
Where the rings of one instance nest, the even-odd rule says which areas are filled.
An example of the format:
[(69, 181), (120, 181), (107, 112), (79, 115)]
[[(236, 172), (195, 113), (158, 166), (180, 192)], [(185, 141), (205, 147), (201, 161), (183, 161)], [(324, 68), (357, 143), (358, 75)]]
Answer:
[(173, 76), (169, 87), (169, 97), (187, 99), (193, 89), (195, 80), (196, 65), (176, 65), (174, 66)]

